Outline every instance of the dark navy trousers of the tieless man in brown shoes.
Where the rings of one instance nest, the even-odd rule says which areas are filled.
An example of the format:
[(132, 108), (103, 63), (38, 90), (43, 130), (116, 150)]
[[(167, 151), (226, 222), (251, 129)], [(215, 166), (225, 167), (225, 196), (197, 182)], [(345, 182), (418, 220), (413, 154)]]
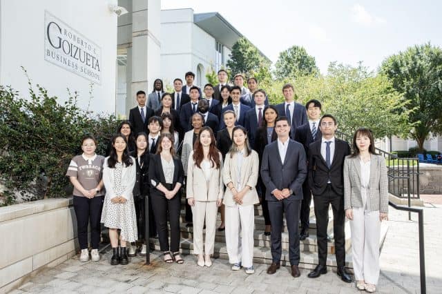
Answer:
[[(293, 197), (293, 196), (291, 196)], [(289, 259), (292, 266), (297, 266), (300, 259), (299, 249), (299, 211), (301, 200), (282, 199), (269, 201), (269, 215), (271, 222), (271, 258), (279, 264), (282, 254), (281, 233), (282, 217), (285, 213), (287, 229), (289, 231)]]

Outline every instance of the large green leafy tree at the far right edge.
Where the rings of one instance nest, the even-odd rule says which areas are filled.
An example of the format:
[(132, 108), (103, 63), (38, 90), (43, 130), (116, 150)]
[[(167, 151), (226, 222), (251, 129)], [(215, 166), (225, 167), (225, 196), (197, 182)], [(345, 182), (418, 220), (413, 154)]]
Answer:
[(383, 61), (383, 72), (408, 101), (414, 129), (410, 137), (423, 150), (432, 133), (442, 134), (442, 50), (430, 43), (407, 48)]

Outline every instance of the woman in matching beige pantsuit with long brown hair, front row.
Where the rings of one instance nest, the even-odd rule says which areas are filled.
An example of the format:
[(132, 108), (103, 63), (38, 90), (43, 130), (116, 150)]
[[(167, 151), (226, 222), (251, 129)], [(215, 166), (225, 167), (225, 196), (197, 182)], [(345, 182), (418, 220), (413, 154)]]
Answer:
[[(222, 184), (222, 155), (215, 147), (215, 136), (209, 126), (200, 131), (187, 165), (186, 197), (193, 214), (193, 253), (198, 266), (211, 266), (210, 255), (215, 244), (216, 215), (224, 193)], [(202, 230), (206, 220), (206, 244)]]

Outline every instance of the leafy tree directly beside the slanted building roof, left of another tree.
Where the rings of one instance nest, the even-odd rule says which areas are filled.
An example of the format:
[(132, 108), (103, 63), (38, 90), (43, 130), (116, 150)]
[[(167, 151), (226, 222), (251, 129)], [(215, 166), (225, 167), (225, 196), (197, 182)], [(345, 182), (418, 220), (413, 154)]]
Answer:
[(238, 73), (253, 77), (253, 74), (260, 72), (261, 68), (268, 69), (270, 66), (270, 62), (262, 57), (258, 48), (244, 37), (238, 39), (233, 45), (229, 58), (227, 68), (231, 71), (230, 77)]

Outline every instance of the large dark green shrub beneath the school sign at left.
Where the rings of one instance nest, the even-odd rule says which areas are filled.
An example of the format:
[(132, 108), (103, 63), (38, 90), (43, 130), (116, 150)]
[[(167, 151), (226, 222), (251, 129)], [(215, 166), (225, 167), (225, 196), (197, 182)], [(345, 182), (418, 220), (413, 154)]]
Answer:
[[(66, 196), (65, 177), (70, 159), (81, 153), (81, 137), (99, 140), (97, 154), (104, 154), (117, 120), (77, 106), (77, 93), (64, 104), (37, 85), (30, 98), (0, 86), (0, 179), (6, 187), (3, 205), (25, 200)], [(0, 198), (1, 202), (1, 198)], [(0, 203), (1, 204), (1, 203)]]

